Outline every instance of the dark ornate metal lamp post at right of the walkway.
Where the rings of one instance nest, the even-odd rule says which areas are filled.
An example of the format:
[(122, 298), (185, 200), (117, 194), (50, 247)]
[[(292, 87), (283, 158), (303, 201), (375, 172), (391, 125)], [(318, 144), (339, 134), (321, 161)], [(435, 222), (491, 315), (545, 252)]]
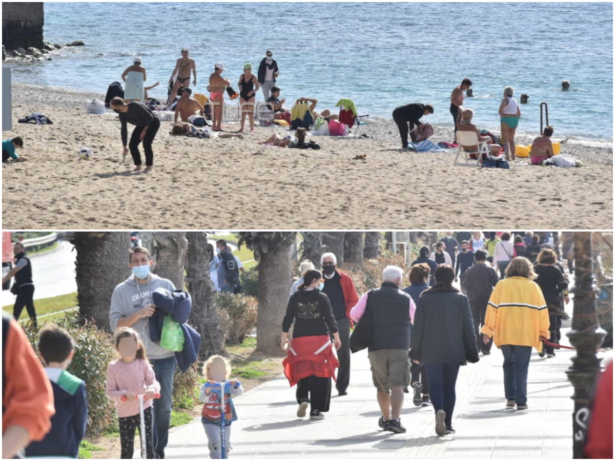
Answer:
[(574, 311), (570, 344), (576, 349), (572, 364), (566, 371), (574, 387), (573, 457), (581, 458), (585, 429), (590, 413), (590, 392), (600, 371), (596, 357), (605, 331), (598, 325), (597, 288), (593, 280), (592, 234), (574, 232)]

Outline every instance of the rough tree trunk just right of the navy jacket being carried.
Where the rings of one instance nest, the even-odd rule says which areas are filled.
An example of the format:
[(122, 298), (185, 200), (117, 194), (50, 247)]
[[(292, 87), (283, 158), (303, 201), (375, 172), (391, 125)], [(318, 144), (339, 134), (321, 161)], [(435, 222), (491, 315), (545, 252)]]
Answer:
[(206, 232), (186, 232), (186, 284), (192, 297), (189, 323), (200, 334), (199, 358), (207, 360), (224, 353), (224, 330), (218, 315), (216, 294), (209, 275), (211, 251), (207, 249)]

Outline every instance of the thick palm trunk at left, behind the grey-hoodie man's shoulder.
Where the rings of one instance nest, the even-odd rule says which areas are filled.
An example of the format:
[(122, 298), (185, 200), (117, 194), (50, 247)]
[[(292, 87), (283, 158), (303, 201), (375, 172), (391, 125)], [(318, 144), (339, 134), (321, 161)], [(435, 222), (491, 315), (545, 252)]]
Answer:
[(130, 232), (74, 232), (79, 315), (110, 332), (113, 289), (130, 277)]

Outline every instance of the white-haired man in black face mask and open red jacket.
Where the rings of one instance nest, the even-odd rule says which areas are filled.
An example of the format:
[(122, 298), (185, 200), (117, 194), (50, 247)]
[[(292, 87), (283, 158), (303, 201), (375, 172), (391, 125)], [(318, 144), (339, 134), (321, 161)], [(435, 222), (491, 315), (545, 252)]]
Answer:
[(338, 324), (341, 347), (338, 349), (339, 369), (335, 387), (339, 395), (347, 395), (346, 388), (350, 382), (350, 310), (359, 301), (352, 279), (336, 270), (338, 259), (333, 253), (324, 253), (320, 258), (322, 272), (325, 275), (325, 293), (331, 302), (333, 317)]

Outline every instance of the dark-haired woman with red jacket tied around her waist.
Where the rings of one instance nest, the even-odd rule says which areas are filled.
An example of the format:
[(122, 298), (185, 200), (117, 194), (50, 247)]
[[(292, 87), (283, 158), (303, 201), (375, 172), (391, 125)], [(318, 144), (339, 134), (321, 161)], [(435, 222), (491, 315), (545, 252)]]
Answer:
[[(282, 350), (288, 348), (288, 357), (282, 364), (291, 387), (297, 385), (297, 417), (300, 418), (306, 416), (308, 406), (310, 419), (325, 417), (323, 412), (329, 411), (331, 400), (331, 378), (335, 379), (335, 369), (339, 366), (329, 336), (333, 334), (333, 344), (339, 349), (338, 325), (329, 298), (320, 293), (323, 286), (322, 274), (308, 270), (299, 290), (288, 299), (282, 321)], [(288, 341), (293, 322), (293, 339)], [(314, 355), (321, 360), (315, 361)]]

